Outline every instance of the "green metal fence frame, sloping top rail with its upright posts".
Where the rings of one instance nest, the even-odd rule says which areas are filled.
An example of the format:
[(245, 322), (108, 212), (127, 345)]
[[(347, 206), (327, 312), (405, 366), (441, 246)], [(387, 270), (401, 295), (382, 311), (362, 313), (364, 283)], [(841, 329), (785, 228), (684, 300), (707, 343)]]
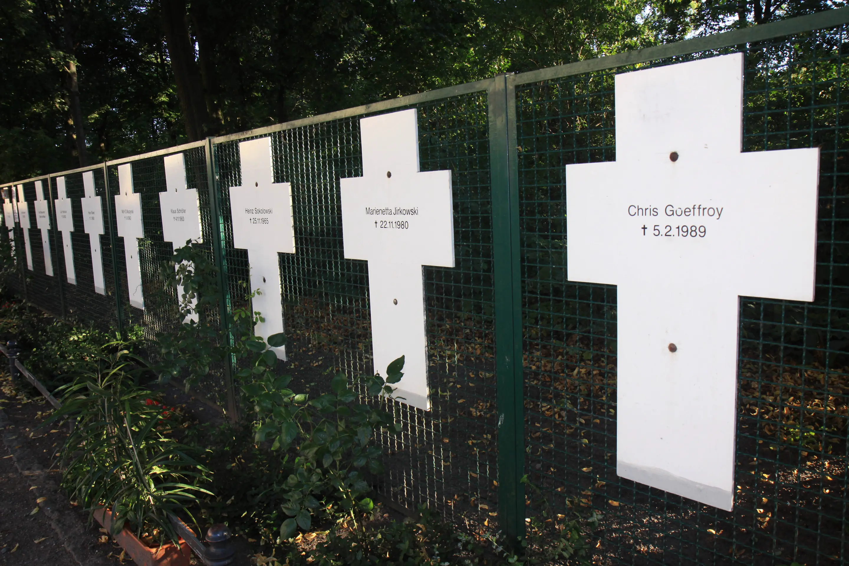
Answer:
[[(211, 212), (214, 218), (218, 218), (218, 226), (213, 231), (212, 248), (219, 267), (220, 282), (222, 289), (225, 285), (226, 273), (224, 272), (223, 249), (222, 249), (222, 224), (220, 215), (220, 203), (218, 202), (218, 178), (213, 160), (216, 144), (238, 140), (245, 137), (261, 136), (272, 132), (280, 132), (301, 126), (308, 126), (358, 115), (368, 115), (391, 109), (409, 107), (415, 104), (437, 101), (442, 98), (468, 94), (472, 92), (486, 92), (487, 111), (489, 115), (489, 143), (490, 143), (490, 167), (492, 179), (492, 231), (493, 231), (493, 273), (495, 279), (495, 349), (496, 349), (496, 379), (498, 386), (498, 518), (499, 525), (509, 541), (516, 541), (525, 533), (526, 496), (524, 485), (521, 482), (525, 474), (525, 440), (524, 427), (525, 415), (523, 405), (523, 345), (522, 345), (522, 280), (520, 261), (520, 195), (519, 195), (519, 168), (517, 150), (517, 123), (516, 123), (516, 87), (531, 82), (546, 81), (550, 79), (563, 78), (585, 74), (597, 70), (610, 70), (616, 67), (648, 63), (657, 59), (689, 55), (711, 49), (728, 48), (735, 45), (760, 42), (763, 40), (790, 36), (806, 31), (815, 31), (849, 23), (849, 8), (838, 8), (801, 16), (792, 20), (782, 20), (766, 25), (756, 25), (734, 31), (697, 37), (657, 47), (638, 49), (627, 53), (619, 53), (599, 59), (580, 61), (572, 64), (564, 64), (543, 70), (534, 70), (526, 73), (513, 75), (500, 75), (493, 78), (466, 83), (454, 87), (441, 88), (434, 91), (422, 92), (402, 98), (393, 98), (374, 104), (365, 104), (356, 108), (344, 109), (324, 115), (312, 116), (301, 120), (293, 120), (284, 124), (267, 126), (251, 130), (250, 132), (239, 132), (222, 137), (210, 137), (205, 141), (187, 143), (173, 148), (161, 149), (147, 154), (140, 154), (121, 160), (106, 161), (99, 165), (82, 167), (70, 171), (62, 171), (48, 176), (31, 177), (20, 182), (3, 183), (3, 187), (17, 185), (24, 182), (42, 180), (48, 182), (50, 188), (51, 207), (53, 208), (55, 195), (53, 194), (53, 177), (69, 175), (82, 171), (93, 171), (102, 169), (106, 182), (107, 196), (109, 195), (108, 167), (135, 160), (146, 159), (158, 155), (174, 154), (186, 149), (204, 147), (208, 190), (211, 197)], [(110, 226), (108, 227), (110, 240), (110, 252), (112, 265), (117, 266), (115, 249), (115, 227), (112, 225), (114, 203), (107, 198)], [(55, 210), (53, 210), (55, 216)], [(53, 238), (59, 245), (58, 231), (53, 229)], [(22, 243), (20, 243), (22, 244)], [(20, 255), (19, 255), (20, 257)], [(23, 262), (21, 273), (24, 278), (24, 294), (26, 293), (25, 274), (26, 268)], [(59, 273), (58, 268), (54, 270), (59, 278), (60, 288), (64, 286), (64, 274)], [(116, 277), (117, 278), (117, 277)], [(117, 330), (125, 332), (124, 316), (122, 314), (121, 297), (115, 292), (117, 309)], [(62, 312), (66, 315), (65, 294), (61, 294)], [(222, 294), (222, 311), (228, 309), (228, 297)], [(222, 321), (223, 322), (223, 321)], [(227, 330), (227, 328), (224, 328)], [(238, 404), (233, 392), (233, 367), (230, 364), (226, 368), (226, 386), (228, 388), (228, 413), (235, 416)]]

